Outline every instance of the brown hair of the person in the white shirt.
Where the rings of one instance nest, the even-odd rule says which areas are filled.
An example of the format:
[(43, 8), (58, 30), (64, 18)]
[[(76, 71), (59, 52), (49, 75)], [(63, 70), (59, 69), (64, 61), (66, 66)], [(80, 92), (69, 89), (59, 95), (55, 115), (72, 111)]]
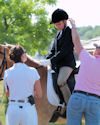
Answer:
[(22, 62), (21, 56), (23, 53), (25, 53), (24, 48), (20, 45), (16, 45), (10, 49), (9, 56), (10, 59), (13, 60), (15, 63)]

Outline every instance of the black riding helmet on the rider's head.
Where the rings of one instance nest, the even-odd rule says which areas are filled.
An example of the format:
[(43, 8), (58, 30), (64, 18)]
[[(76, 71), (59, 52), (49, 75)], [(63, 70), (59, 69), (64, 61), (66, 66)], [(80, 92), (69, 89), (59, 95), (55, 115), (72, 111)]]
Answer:
[(64, 10), (56, 9), (52, 13), (52, 20), (51, 20), (50, 24), (57, 23), (61, 20), (67, 20), (67, 19), (68, 19), (68, 14)]

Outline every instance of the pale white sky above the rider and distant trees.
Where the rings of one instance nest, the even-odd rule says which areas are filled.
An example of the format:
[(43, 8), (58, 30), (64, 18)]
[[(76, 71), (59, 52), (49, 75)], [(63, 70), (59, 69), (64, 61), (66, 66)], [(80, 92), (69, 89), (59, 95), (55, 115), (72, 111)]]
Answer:
[(48, 7), (49, 17), (57, 8), (64, 9), (77, 27), (100, 26), (100, 0), (58, 0), (56, 6)]

